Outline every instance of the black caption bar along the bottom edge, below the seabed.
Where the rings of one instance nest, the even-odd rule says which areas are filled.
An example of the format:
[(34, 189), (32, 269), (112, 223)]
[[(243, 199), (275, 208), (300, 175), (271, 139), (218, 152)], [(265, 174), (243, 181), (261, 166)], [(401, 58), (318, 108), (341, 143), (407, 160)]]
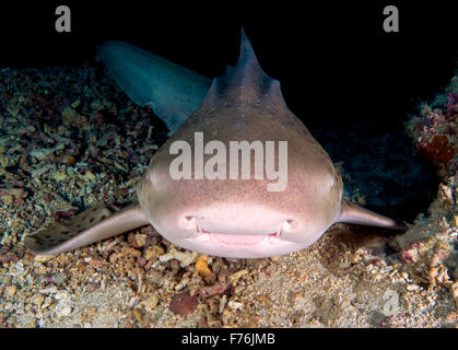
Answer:
[[(210, 345), (183, 345), (184, 336), (189, 332), (198, 336), (219, 336), (230, 339), (231, 334), (274, 334), (274, 345), (230, 345), (220, 341), (212, 348)], [(432, 338), (441, 337), (444, 341), (454, 340), (454, 330), (450, 329), (320, 329), (320, 328), (257, 328), (257, 329), (185, 329), (185, 328), (154, 328), (154, 329), (0, 329), (2, 339), (28, 342), (35, 345), (37, 341), (68, 341), (79, 349), (87, 347), (91, 343), (97, 349), (132, 348), (132, 341), (145, 345), (146, 347), (167, 347), (167, 349), (307, 349), (310, 343), (319, 343), (326, 348), (338, 348), (342, 343), (351, 343), (355, 349), (366, 349), (374, 343), (381, 346), (404, 346), (414, 348), (424, 345)], [(134, 337), (134, 340), (132, 340)], [(49, 340), (52, 339), (52, 340)], [(237, 338), (238, 339), (238, 338)]]

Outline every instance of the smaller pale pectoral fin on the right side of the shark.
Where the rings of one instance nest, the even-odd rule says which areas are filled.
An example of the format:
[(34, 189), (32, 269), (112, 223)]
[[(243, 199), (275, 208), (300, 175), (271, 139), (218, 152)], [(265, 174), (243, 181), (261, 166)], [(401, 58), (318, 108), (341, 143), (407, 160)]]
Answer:
[(340, 218), (336, 222), (355, 223), (367, 226), (378, 226), (390, 230), (406, 231), (408, 228), (397, 223), (395, 220), (377, 214), (374, 211), (364, 209), (353, 202), (342, 200)]

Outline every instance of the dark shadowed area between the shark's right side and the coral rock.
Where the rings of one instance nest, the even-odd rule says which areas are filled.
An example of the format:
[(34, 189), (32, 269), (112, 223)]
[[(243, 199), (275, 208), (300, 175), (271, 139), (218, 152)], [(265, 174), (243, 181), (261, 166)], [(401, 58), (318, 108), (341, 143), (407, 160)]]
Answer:
[(369, 122), (350, 132), (324, 130), (316, 139), (334, 163), (342, 164), (344, 198), (364, 198), (364, 207), (412, 222), (437, 194), (436, 170), (416, 154), (402, 130), (375, 133)]

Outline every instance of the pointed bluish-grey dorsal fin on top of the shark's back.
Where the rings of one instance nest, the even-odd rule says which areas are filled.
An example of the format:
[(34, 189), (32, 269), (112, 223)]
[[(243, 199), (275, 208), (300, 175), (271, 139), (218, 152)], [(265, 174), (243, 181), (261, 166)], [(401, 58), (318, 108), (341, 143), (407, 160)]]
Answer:
[(286, 107), (280, 82), (267, 75), (259, 66), (244, 28), (237, 66), (228, 66), (224, 75), (213, 79), (202, 105), (220, 102)]

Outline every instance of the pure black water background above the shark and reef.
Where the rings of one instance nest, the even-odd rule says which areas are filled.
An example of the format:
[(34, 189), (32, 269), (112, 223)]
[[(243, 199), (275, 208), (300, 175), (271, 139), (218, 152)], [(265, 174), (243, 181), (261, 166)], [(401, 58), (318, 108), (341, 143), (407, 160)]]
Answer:
[[(214, 78), (236, 62), (244, 26), (261, 67), (312, 131), (368, 118), (384, 131), (449, 82), (458, 12), (454, 1), (365, 2), (2, 2), (0, 67), (82, 65), (97, 44), (120, 39)], [(70, 34), (55, 31), (59, 4), (72, 11)], [(388, 4), (399, 9), (399, 33), (383, 31)]]

